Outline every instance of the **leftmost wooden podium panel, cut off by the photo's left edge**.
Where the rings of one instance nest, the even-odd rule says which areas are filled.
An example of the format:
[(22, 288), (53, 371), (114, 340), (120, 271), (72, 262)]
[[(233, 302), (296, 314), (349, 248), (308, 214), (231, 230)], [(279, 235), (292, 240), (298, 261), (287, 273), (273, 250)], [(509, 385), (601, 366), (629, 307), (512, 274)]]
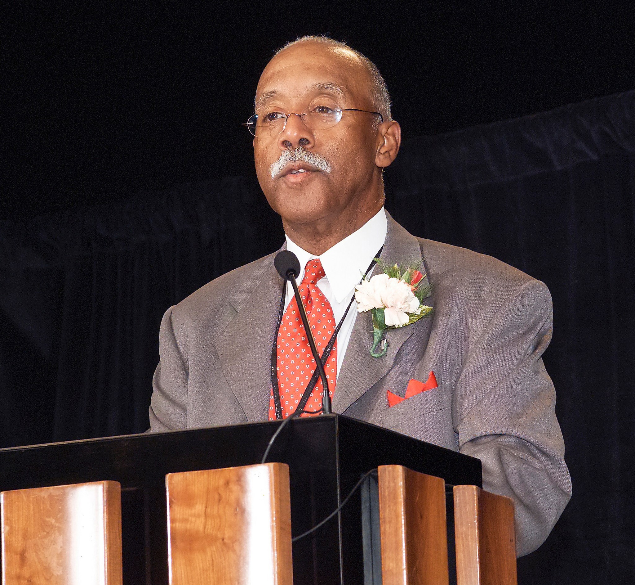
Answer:
[(3, 585), (121, 585), (116, 481), (0, 494)]

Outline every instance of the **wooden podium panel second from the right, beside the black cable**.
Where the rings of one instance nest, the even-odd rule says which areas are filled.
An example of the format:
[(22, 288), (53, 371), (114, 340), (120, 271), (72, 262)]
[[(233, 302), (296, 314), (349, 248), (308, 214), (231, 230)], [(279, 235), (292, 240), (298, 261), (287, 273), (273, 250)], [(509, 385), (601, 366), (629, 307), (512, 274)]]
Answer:
[(445, 482), (380, 465), (383, 585), (448, 585)]

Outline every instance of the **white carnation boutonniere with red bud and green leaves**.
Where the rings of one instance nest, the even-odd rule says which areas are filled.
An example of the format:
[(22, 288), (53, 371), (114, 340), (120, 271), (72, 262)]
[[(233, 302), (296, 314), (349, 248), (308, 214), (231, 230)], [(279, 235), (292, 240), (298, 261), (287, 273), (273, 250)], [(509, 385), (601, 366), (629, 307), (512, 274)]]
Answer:
[(358, 313), (373, 312), (370, 355), (382, 357), (388, 350), (386, 329), (410, 325), (429, 315), (432, 307), (423, 304), (430, 296), (430, 286), (423, 285), (424, 274), (418, 270), (421, 263), (402, 270), (398, 265), (387, 266), (378, 258), (375, 262), (384, 272), (370, 280), (364, 277), (355, 287), (355, 300)]

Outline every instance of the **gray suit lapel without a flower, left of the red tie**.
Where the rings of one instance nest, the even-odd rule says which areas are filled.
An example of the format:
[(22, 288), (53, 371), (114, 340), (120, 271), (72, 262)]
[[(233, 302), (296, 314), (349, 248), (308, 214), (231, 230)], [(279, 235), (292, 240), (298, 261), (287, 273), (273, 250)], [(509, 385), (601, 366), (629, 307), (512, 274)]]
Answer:
[(283, 280), (275, 254), (229, 294), (236, 315), (214, 340), (225, 379), (249, 422), (266, 420), (271, 394), (271, 348)]

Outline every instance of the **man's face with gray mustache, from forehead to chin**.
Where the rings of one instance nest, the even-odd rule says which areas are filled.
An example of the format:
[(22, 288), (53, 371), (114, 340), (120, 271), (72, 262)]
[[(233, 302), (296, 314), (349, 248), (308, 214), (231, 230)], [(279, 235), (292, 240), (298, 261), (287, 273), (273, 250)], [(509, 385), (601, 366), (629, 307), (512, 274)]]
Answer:
[[(256, 93), (256, 113), (262, 120), (267, 114), (303, 113), (316, 106), (375, 111), (370, 82), (370, 74), (354, 53), (298, 43), (265, 67)], [(377, 118), (344, 112), (337, 125), (311, 130), (299, 116), (290, 116), (281, 134), (253, 141), (258, 181), (285, 223), (337, 221), (369, 205), (375, 212), (379, 209), (381, 202), (375, 200), (381, 195), (381, 169), (376, 160), (384, 139), (375, 124)], [(272, 165), (284, 151), (298, 146), (318, 155), (318, 160), (277, 165), (272, 177)]]

